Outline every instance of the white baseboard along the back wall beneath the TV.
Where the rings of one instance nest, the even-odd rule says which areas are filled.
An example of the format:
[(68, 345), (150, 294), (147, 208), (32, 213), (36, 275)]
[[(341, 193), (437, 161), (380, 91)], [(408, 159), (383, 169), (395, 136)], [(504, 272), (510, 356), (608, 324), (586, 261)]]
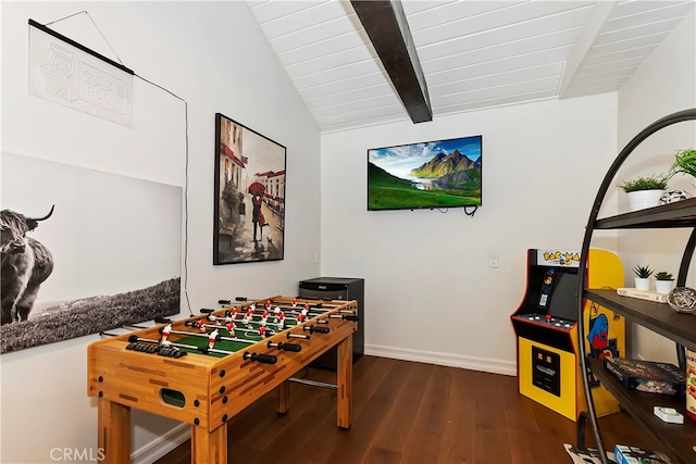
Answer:
[(436, 364), (440, 366), (461, 367), (471, 371), (489, 372), (502, 375), (518, 375), (517, 363), (512, 361), (490, 360), (485, 358), (462, 356), (450, 353), (432, 351), (406, 350), (401, 348), (365, 344), (365, 354), (372, 356), (391, 358), (402, 361)]

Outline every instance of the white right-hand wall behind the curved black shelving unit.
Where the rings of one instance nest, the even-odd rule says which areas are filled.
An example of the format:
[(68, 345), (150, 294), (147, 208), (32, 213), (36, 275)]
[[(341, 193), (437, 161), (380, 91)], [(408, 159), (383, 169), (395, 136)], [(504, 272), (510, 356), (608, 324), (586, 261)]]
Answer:
[[(619, 146), (625, 146), (652, 122), (676, 111), (696, 108), (696, 11), (680, 24), (648, 58), (619, 92)], [(617, 177), (666, 173), (678, 150), (696, 147), (696, 123), (679, 123), (645, 140), (624, 164)], [(669, 186), (696, 196), (687, 176), (674, 177)], [(622, 198), (623, 200), (623, 198)], [(656, 271), (676, 275), (689, 230), (634, 230), (620, 235), (619, 253), (630, 269), (649, 264)], [(696, 261), (687, 285), (696, 287)], [(674, 343), (639, 326), (631, 329), (632, 355), (646, 360), (675, 362)]]

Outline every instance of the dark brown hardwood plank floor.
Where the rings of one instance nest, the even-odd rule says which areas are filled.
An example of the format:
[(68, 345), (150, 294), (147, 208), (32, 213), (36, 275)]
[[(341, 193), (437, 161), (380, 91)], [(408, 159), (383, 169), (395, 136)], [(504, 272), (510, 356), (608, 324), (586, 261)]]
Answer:
[[(309, 368), (298, 377), (334, 381)], [(518, 393), (517, 378), (364, 355), (353, 369), (353, 423), (336, 427), (336, 391), (293, 384), (291, 407), (268, 394), (229, 422), (228, 462), (244, 464), (558, 464), (575, 423)], [(605, 448), (655, 442), (626, 413), (600, 418)], [(586, 442), (594, 447), (589, 426)], [(190, 462), (186, 441), (157, 464)]]

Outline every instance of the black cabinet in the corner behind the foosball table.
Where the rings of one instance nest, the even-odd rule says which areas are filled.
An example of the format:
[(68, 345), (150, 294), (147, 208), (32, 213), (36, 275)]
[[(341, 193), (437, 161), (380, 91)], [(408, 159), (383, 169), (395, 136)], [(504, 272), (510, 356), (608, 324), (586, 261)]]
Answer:
[[(318, 300), (356, 300), (358, 302), (358, 330), (352, 334), (352, 361), (362, 356), (365, 346), (364, 323), (365, 280), (351, 277), (316, 277), (300, 280), (299, 297)], [(310, 364), (312, 367), (336, 369), (336, 348), (328, 350)]]

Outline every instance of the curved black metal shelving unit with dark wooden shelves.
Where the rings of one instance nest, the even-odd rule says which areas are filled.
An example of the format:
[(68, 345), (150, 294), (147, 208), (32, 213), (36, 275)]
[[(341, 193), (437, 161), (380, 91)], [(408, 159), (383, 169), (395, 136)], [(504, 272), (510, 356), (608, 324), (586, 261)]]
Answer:
[(687, 464), (696, 462), (696, 453), (693, 449), (696, 444), (696, 422), (685, 417), (683, 425), (667, 424), (652, 414), (652, 406), (659, 403), (659, 405), (662, 406), (674, 407), (686, 416), (684, 399), (667, 396), (655, 398), (654, 393), (644, 393), (625, 388), (604, 367), (600, 360), (587, 356), (585, 352), (585, 327), (583, 319), (585, 300), (595, 301), (614, 313), (624, 316), (627, 321), (633, 321), (673, 340), (676, 344), (679, 363), (682, 368), (684, 368), (685, 364), (685, 347), (696, 350), (696, 315), (678, 313), (663, 303), (620, 297), (614, 290), (588, 289), (585, 286), (587, 281), (587, 258), (595, 230), (660, 229), (675, 227), (692, 229), (689, 239), (684, 247), (684, 253), (676, 278), (678, 286), (685, 285), (696, 247), (696, 198), (611, 217), (598, 218), (598, 215), (601, 203), (619, 168), (641, 142), (672, 124), (695, 120), (696, 109), (680, 111), (656, 121), (636, 135), (619, 153), (613, 164), (609, 167), (595, 198), (585, 228), (579, 271), (577, 346), (580, 350), (581, 369), (585, 373), (583, 376), (583, 391), (587, 400), (588, 411), (586, 414), (583, 414), (582, 419), (579, 419), (577, 426), (579, 440), (584, 441), (584, 438), (581, 438), (584, 435), (584, 423), (585, 421), (589, 422), (594, 430), (597, 450), (602, 464), (609, 464), (610, 461), (607, 457), (592, 397), (591, 381), (593, 376), (598, 379), (607, 390), (617, 398), (619, 404), (663, 447), (663, 449), (659, 451), (667, 453), (678, 463)]

